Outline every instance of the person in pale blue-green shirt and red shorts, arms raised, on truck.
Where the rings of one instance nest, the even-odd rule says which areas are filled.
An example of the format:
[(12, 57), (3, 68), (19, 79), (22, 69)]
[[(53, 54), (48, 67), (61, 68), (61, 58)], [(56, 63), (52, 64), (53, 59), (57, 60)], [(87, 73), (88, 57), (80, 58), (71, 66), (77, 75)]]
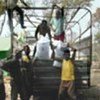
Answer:
[(51, 18), (50, 26), (54, 31), (54, 39), (64, 41), (65, 33), (64, 33), (64, 7), (59, 7), (57, 5), (52, 6), (52, 13), (54, 8), (57, 7), (55, 12), (55, 16)]

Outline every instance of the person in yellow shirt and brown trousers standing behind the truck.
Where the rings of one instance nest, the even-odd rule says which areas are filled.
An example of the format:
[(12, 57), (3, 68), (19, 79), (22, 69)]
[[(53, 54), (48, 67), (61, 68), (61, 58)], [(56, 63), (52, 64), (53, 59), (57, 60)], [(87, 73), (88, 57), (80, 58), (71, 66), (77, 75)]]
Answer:
[[(76, 54), (76, 49), (69, 46), (73, 50), (72, 58), (70, 58), (70, 50), (68, 48), (63, 48), (64, 59), (62, 62), (62, 72), (61, 72), (61, 83), (59, 87), (58, 100), (63, 100), (63, 93), (68, 94), (71, 100), (76, 100), (75, 87), (74, 87), (74, 59)], [(69, 100), (69, 99), (68, 99)]]

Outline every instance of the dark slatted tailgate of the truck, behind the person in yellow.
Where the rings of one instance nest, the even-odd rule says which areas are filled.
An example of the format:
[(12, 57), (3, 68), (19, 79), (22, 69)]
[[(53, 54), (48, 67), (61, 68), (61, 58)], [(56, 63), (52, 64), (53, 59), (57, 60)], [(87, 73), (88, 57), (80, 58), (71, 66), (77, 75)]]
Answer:
[[(78, 89), (90, 86), (90, 68), (85, 61), (75, 61), (75, 86)], [(60, 85), (61, 68), (54, 67), (52, 60), (36, 60), (33, 64), (34, 92), (57, 91)]]

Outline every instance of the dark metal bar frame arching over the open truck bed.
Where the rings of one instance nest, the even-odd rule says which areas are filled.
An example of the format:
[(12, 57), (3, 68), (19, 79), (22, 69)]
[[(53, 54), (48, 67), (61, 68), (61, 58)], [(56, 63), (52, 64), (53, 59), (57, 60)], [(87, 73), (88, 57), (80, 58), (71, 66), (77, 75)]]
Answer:
[[(47, 9), (52, 9), (52, 7), (22, 7), (22, 9), (25, 9), (25, 10), (27, 10), (27, 9), (47, 10)], [(79, 28), (80, 29), (79, 31), (81, 32), (81, 34), (78, 37), (76, 37), (76, 39), (73, 42), (75, 42), (77, 39), (81, 38), (90, 29), (90, 58), (89, 58), (89, 62), (91, 63), (91, 61), (92, 61), (92, 13), (88, 8), (85, 8), (85, 7), (65, 7), (65, 10), (67, 10), (67, 9), (74, 9), (75, 10), (75, 12), (72, 15), (72, 17), (70, 18), (70, 20), (68, 22), (66, 22), (67, 25), (69, 23), (74, 23), (72, 20), (75, 18), (75, 16), (77, 15), (77, 13), (81, 9), (86, 10), (86, 13), (83, 14), (83, 16), (81, 16), (77, 21), (75, 21), (75, 23), (72, 27), (74, 27), (76, 24), (79, 25), (79, 21), (81, 21), (88, 13), (90, 14), (90, 25), (83, 32), (81, 32), (81, 28)], [(80, 27), (80, 25), (79, 25), (79, 27)]]

